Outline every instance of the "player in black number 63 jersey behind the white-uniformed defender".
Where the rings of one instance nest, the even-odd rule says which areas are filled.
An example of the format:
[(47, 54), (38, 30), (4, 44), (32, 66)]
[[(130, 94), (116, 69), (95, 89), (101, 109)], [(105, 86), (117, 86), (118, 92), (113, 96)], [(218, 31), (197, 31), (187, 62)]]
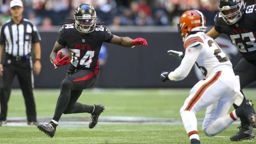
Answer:
[[(214, 18), (215, 26), (206, 33), (213, 39), (222, 33), (228, 35), (231, 43), (242, 54), (243, 58), (234, 68), (235, 75), (240, 77), (241, 92), (256, 80), (256, 6), (245, 5), (243, 0), (220, 0), (220, 12)], [(237, 105), (234, 104), (234, 107), (237, 108)], [(254, 138), (254, 131), (248, 120), (245, 117), (240, 117), (240, 120), (239, 131), (230, 140)]]

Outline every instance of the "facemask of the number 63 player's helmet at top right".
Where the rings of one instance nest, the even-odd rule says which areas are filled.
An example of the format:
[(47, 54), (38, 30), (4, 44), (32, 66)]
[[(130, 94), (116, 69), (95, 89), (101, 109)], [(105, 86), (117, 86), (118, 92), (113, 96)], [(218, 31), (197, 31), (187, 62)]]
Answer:
[(236, 6), (223, 6), (219, 8), (219, 10), (224, 21), (232, 25), (242, 18), (244, 7), (245, 5), (243, 1), (241, 1), (241, 3), (238, 3)]

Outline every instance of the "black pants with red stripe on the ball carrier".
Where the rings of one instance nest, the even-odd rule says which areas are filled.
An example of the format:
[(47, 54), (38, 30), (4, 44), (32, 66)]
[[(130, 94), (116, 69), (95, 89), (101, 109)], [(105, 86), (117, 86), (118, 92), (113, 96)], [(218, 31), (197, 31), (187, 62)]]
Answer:
[(67, 74), (60, 85), (60, 95), (55, 108), (53, 120), (59, 121), (62, 114), (92, 113), (94, 106), (76, 102), (83, 89), (92, 87), (98, 80), (95, 70), (79, 69)]

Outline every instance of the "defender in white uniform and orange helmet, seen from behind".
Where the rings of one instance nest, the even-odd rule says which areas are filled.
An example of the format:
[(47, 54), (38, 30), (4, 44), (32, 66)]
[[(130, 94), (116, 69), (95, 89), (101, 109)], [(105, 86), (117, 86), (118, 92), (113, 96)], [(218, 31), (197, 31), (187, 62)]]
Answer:
[[(243, 102), (239, 77), (235, 76), (227, 55), (214, 40), (205, 35), (205, 17), (198, 10), (182, 14), (178, 24), (179, 35), (184, 42), (185, 56), (178, 68), (162, 72), (161, 80), (179, 81), (188, 75), (196, 64), (205, 75), (189, 93), (180, 109), (182, 121), (192, 144), (199, 144), (196, 113), (207, 107), (203, 131), (215, 136), (224, 131), (238, 117), (244, 116), (256, 127), (255, 112), (251, 101)], [(228, 114), (233, 103), (239, 107)]]

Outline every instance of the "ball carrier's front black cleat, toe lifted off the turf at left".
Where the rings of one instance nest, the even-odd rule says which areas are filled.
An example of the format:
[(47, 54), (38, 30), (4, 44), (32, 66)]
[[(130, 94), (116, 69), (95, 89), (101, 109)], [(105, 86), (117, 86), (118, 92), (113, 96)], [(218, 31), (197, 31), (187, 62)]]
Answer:
[(37, 125), (37, 128), (39, 130), (41, 130), (42, 132), (44, 132), (47, 136), (49, 137), (53, 137), (55, 135), (55, 131), (56, 131), (56, 124), (53, 123), (45, 123), (45, 124), (39, 124)]

